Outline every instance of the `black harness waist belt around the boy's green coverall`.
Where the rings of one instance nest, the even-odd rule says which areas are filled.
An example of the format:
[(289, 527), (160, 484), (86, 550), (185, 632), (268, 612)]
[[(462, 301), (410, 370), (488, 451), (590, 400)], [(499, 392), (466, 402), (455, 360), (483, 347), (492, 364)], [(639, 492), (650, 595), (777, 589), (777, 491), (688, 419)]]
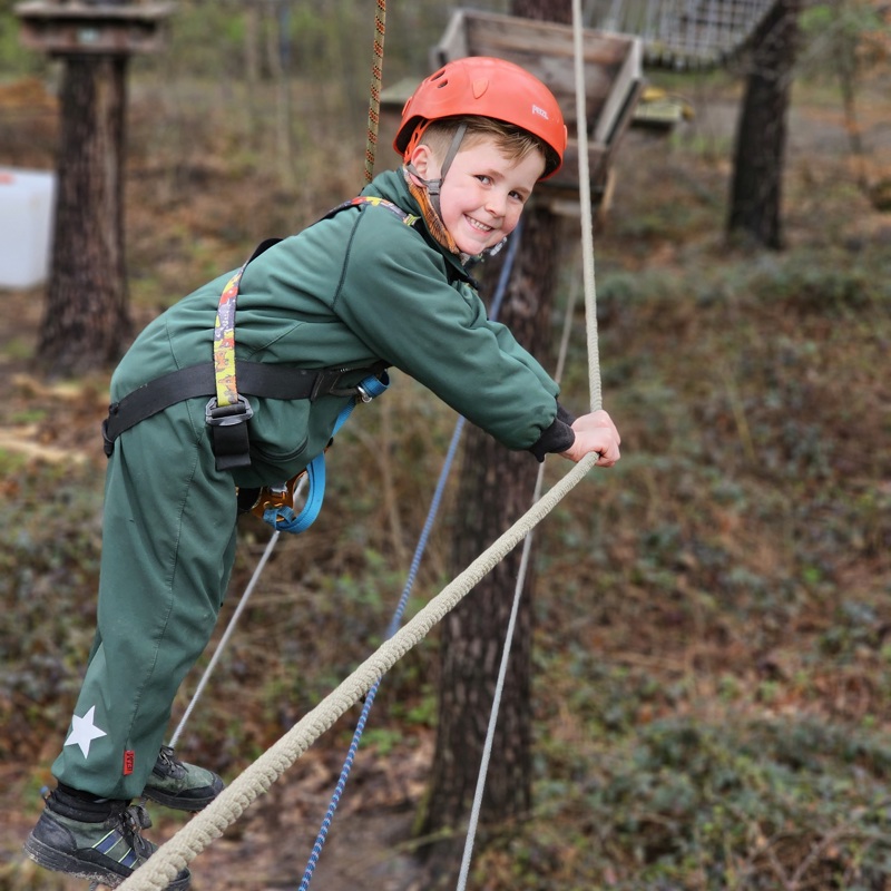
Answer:
[[(323, 395), (351, 396), (358, 393), (356, 385), (340, 386), (345, 374), (364, 380), (378, 376), (386, 369), (386, 363), (378, 362), (371, 368), (353, 369), (288, 369), (268, 365), (264, 362), (238, 361), (235, 363), (238, 390), (255, 396), (268, 399), (309, 399)], [(110, 456), (115, 440), (139, 421), (157, 414), (170, 405), (197, 396), (214, 398), (216, 378), (212, 362), (189, 365), (172, 371), (128, 393), (119, 402), (108, 407), (108, 418), (102, 422), (105, 453)], [(214, 400), (215, 401), (215, 400)], [(237, 405), (235, 409), (237, 410)], [(222, 421), (221, 421), (222, 422)]]

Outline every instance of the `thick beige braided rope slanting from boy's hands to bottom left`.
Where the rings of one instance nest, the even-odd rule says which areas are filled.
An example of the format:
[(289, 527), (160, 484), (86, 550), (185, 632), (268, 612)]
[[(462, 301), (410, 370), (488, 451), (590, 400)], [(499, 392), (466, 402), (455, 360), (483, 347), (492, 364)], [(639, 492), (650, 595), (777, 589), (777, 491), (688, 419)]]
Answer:
[(120, 891), (163, 891), (177, 873), (234, 823), (261, 794), (419, 644), (585, 478), (597, 456), (585, 456), (500, 538), (447, 585), (393, 637), (385, 640), (336, 689), (251, 764), (204, 811), (121, 885)]

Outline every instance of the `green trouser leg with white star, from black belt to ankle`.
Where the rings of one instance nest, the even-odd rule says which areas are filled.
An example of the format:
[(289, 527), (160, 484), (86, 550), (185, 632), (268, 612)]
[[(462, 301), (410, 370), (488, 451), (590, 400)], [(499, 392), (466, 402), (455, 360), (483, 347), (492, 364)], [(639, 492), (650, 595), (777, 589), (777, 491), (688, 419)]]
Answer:
[(59, 781), (95, 795), (141, 794), (225, 596), (236, 492), (215, 468), (205, 402), (138, 423), (109, 459), (96, 638), (52, 765)]

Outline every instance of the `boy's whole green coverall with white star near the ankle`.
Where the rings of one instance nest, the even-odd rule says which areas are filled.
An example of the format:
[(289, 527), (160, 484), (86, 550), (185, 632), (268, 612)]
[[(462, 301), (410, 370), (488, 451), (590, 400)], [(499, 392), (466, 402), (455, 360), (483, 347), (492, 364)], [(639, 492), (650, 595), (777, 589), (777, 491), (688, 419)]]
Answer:
[[(401, 172), (363, 194), (420, 215)], [(209, 362), (231, 273), (153, 321), (111, 381), (120, 400), (179, 368)], [(364, 205), (284, 239), (246, 268), (239, 359), (302, 369), (385, 361), (511, 449), (539, 460), (572, 442), (558, 386), (510, 332), (487, 320), (460, 260), (384, 207)], [(218, 471), (206, 399), (137, 423), (115, 443), (106, 480), (98, 624), (56, 777), (95, 795), (141, 794), (172, 703), (205, 648), (235, 552), (236, 487), (281, 483), (329, 442), (344, 396), (251, 398), (252, 466)], [(355, 421), (354, 421), (355, 422)]]

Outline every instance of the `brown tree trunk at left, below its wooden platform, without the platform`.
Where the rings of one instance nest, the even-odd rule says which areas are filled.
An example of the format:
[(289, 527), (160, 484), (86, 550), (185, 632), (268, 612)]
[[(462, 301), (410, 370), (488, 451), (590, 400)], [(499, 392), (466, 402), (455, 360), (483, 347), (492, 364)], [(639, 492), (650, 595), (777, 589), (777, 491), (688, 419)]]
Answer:
[(120, 355), (130, 333), (121, 163), (125, 57), (66, 60), (52, 265), (41, 365), (71, 374)]

